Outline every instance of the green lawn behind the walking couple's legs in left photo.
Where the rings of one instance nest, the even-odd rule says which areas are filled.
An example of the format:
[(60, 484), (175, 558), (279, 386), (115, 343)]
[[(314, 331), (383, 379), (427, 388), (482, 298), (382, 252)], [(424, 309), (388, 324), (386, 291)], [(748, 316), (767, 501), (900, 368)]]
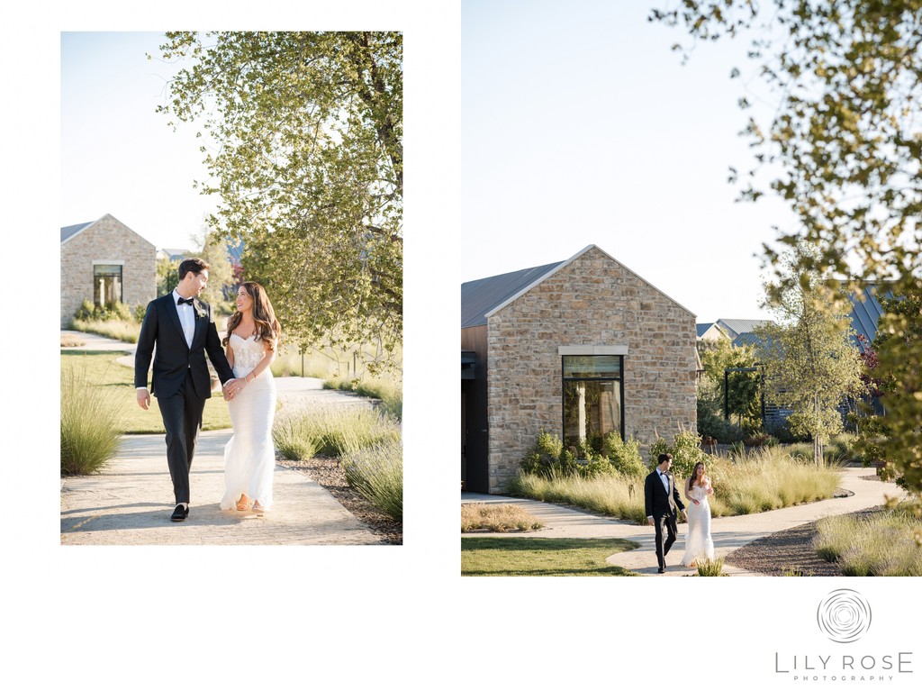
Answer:
[[(100, 387), (112, 387), (116, 392), (119, 419), (124, 434), (164, 434), (163, 421), (157, 400), (151, 401), (148, 410), (141, 410), (137, 405), (135, 393), (135, 370), (117, 363), (123, 352), (100, 351), (62, 351), (61, 368), (79, 367), (90, 381)], [(230, 429), (231, 414), (228, 405), (220, 394), (212, 393), (205, 403), (202, 416), (202, 429)]]

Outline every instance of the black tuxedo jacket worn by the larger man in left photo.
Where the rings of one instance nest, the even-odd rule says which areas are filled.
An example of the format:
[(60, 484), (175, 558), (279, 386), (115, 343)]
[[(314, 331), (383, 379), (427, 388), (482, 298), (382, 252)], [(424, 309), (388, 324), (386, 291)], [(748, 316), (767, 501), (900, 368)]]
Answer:
[(179, 319), (179, 312), (176, 311), (172, 291), (148, 303), (148, 311), (141, 324), (141, 335), (138, 336), (135, 352), (136, 388), (148, 386), (151, 357), (154, 360), (154, 374), (150, 393), (158, 398), (175, 395), (183, 385), (186, 372), (192, 373), (196, 395), (201, 399), (210, 398), (211, 378), (205, 362), (206, 352), (222, 384), (233, 378), (231, 365), (224, 356), (224, 349), (218, 338), (211, 306), (196, 297), (193, 310), (195, 335), (190, 348), (185, 341), (183, 324)]

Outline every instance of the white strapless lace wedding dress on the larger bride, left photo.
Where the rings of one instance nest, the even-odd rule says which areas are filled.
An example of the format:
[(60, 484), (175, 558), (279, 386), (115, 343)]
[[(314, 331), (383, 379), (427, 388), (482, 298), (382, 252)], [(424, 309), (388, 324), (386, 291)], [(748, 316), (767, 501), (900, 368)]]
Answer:
[[(242, 339), (231, 333), (233, 374), (243, 378), (266, 354), (262, 340)], [(276, 449), (272, 445), (272, 422), (276, 415), (276, 382), (268, 368), (228, 401), (233, 435), (224, 446), (224, 497), (221, 510), (237, 506), (242, 494), (258, 501), (263, 509), (272, 506), (272, 472)]]

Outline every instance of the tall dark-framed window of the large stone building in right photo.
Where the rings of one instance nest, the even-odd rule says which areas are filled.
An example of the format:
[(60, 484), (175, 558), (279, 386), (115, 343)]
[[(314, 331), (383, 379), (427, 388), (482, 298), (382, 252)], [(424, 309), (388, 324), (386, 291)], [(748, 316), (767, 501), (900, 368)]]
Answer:
[(615, 432), (624, 438), (622, 355), (564, 355), (563, 445), (587, 442), (601, 448), (602, 437)]

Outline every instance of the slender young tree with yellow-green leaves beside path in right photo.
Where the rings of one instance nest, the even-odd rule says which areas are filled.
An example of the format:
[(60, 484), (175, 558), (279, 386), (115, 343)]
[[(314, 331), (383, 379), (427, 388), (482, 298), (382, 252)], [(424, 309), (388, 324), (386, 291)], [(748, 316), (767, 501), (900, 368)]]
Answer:
[[(786, 255), (786, 266), (797, 270), (798, 251)], [(767, 305), (777, 323), (756, 328), (761, 337), (760, 359), (765, 366), (766, 399), (789, 410), (794, 434), (810, 434), (813, 459), (822, 464), (822, 446), (842, 431), (838, 411), (846, 399), (865, 389), (862, 364), (850, 334), (850, 319), (828, 299), (828, 290), (815, 274), (801, 273), (792, 290), (767, 286)]]

